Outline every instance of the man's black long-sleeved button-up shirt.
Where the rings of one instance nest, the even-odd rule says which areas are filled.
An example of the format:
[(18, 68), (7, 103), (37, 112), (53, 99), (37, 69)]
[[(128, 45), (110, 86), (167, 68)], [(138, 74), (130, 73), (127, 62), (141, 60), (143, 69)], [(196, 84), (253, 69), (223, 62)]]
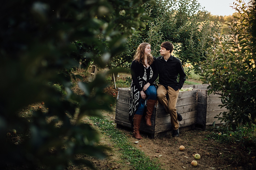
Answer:
[[(186, 74), (180, 60), (171, 55), (167, 61), (165, 61), (164, 56), (157, 57), (157, 61), (159, 66), (159, 84), (163, 85), (166, 89), (168, 89), (168, 86), (172, 87), (175, 91), (181, 89), (186, 80)], [(178, 74), (179, 82), (177, 82)]]

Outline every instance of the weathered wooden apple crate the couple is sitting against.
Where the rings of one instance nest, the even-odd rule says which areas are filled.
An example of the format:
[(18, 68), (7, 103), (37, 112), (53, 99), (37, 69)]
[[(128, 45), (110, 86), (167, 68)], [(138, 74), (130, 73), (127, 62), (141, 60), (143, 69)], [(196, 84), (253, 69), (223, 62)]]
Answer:
[[(116, 100), (115, 123), (131, 128), (129, 121), (129, 103), (131, 92), (129, 88), (118, 88)], [(176, 105), (177, 111), (183, 116), (179, 122), (180, 132), (195, 128), (197, 122), (197, 90), (180, 92)], [(156, 103), (151, 116), (152, 126), (147, 126), (145, 120), (141, 122), (141, 132), (149, 133), (151, 137), (162, 136), (172, 132), (170, 116), (165, 112), (161, 103)]]

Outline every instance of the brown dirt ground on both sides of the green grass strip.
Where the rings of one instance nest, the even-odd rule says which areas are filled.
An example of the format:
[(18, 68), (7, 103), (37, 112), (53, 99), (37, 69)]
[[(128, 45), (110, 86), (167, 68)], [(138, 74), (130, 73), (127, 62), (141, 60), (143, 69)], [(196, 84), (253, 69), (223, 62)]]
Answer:
[[(103, 113), (105, 118), (114, 121), (115, 108), (111, 113)], [(95, 127), (97, 128), (97, 127)], [(115, 127), (116, 128), (116, 127)], [(161, 168), (166, 170), (178, 169), (255, 169), (255, 153), (248, 155), (248, 150), (242, 146), (242, 143), (219, 143), (214, 138), (207, 137), (211, 132), (201, 130), (189, 130), (181, 132), (179, 137), (171, 136), (150, 138), (150, 135), (142, 133), (143, 139), (137, 141), (132, 137), (132, 132), (127, 128), (117, 128), (127, 136), (131, 145), (142, 150), (150, 159), (157, 159), (161, 163)], [(110, 146), (111, 152), (105, 160), (92, 159), (97, 169), (130, 169), (128, 165), (120, 163), (122, 155), (111, 143), (108, 136), (101, 135), (101, 144)], [(179, 146), (185, 146), (184, 151), (179, 151)], [(200, 154), (201, 159), (197, 160), (196, 167), (191, 166), (194, 154)], [(162, 155), (162, 156), (159, 156)], [(74, 169), (86, 169), (77, 167)]]

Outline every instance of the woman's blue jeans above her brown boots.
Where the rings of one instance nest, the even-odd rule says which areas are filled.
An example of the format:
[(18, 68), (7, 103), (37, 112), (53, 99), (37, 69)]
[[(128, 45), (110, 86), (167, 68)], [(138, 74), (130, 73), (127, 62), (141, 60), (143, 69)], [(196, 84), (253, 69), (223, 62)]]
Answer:
[[(156, 100), (156, 87), (155, 86), (149, 86), (144, 93), (147, 95), (147, 99)], [(138, 108), (135, 111), (135, 114), (143, 115), (145, 109), (145, 100), (141, 98)]]

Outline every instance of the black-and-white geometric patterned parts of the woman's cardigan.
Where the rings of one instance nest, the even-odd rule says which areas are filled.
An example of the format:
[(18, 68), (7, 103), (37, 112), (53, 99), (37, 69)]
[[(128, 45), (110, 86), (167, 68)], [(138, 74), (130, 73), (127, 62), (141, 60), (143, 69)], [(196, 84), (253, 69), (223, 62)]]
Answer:
[[(146, 69), (144, 69), (144, 75), (143, 77), (138, 76), (137, 80), (140, 84), (140, 86), (143, 88), (145, 84), (147, 84), (147, 74), (146, 74)], [(150, 77), (149, 80), (152, 78), (153, 76), (153, 71), (150, 67)], [(156, 82), (152, 83), (153, 86), (155, 86), (156, 88), (158, 87), (156, 85)], [(133, 117), (135, 114), (135, 111), (137, 110), (138, 106), (140, 103), (145, 102), (144, 99), (142, 99), (141, 97), (141, 93), (140, 91), (136, 88), (135, 84), (132, 81), (131, 84), (131, 97), (130, 97), (130, 106), (129, 106), (129, 121), (131, 122), (131, 124), (133, 125)]]

